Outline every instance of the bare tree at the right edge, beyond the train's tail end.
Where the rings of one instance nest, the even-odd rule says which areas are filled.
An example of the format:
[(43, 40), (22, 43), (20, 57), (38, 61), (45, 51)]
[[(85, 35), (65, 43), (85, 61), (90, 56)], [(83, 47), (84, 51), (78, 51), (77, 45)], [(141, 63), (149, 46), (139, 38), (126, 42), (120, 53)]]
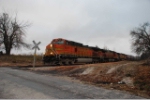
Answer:
[(150, 24), (144, 23), (131, 31), (132, 50), (137, 54), (150, 52)]

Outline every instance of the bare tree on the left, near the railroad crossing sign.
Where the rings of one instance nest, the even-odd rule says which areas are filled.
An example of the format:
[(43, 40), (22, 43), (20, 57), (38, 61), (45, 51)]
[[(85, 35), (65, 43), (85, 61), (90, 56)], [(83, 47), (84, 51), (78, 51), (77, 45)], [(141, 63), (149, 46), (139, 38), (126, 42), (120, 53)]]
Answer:
[(7, 55), (10, 55), (12, 48), (30, 48), (24, 41), (25, 28), (28, 26), (27, 23), (19, 23), (17, 16), (11, 18), (7, 13), (0, 15), (0, 44), (3, 44)]

